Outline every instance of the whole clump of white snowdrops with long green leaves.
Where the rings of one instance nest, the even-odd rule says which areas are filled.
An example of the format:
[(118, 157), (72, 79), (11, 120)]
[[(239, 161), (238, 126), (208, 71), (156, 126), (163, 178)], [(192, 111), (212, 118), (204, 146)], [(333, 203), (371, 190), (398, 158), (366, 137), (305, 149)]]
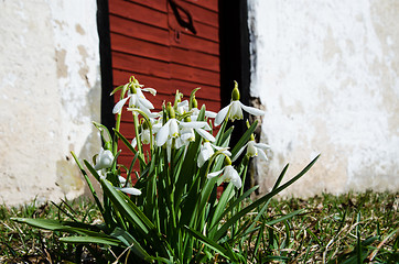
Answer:
[[(144, 96), (144, 92), (155, 96), (155, 89), (143, 88), (134, 77), (111, 95), (118, 91), (120, 100), (112, 110), (116, 114), (114, 131), (94, 123), (104, 143), (99, 153), (91, 163), (84, 161), (84, 164), (73, 153), (103, 222), (15, 220), (71, 233), (61, 239), (64, 242), (100, 245), (101, 254), (98, 248), (93, 252), (98, 262), (112, 257), (112, 261), (126, 263), (246, 263), (249, 258), (256, 260), (257, 245), (265, 239), (259, 231), (263, 230), (265, 222), (260, 220), (265, 219), (269, 200), (304, 175), (316, 158), (281, 185), (285, 166), (269, 194), (248, 202), (258, 188), (245, 190), (242, 187), (249, 160), (267, 158), (268, 145), (256, 143), (252, 133), (257, 122), (247, 121), (248, 130), (230, 146), (234, 127), (227, 128), (229, 121), (241, 120), (242, 110), (254, 116), (263, 114), (239, 101), (237, 82), (231, 102), (217, 113), (207, 111), (205, 106), (198, 108), (195, 99), (198, 88), (187, 100), (176, 91), (174, 101), (163, 103), (160, 112), (154, 111)], [(136, 138), (132, 142), (119, 132), (125, 107), (133, 116)], [(217, 134), (214, 134), (215, 128)], [(118, 143), (133, 153), (128, 167), (118, 164), (121, 152)], [(88, 174), (100, 184), (103, 201)], [(217, 187), (222, 184), (224, 191), (218, 197)], [(300, 212), (274, 218), (273, 223)]]

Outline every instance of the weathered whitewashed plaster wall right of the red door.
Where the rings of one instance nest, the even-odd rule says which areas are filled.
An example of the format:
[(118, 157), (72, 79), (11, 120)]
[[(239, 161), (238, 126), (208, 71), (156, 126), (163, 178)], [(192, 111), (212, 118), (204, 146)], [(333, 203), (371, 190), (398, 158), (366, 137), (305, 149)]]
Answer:
[[(263, 190), (316, 154), (290, 195), (399, 190), (399, 1), (248, 0), (251, 96), (266, 108)], [(255, 56), (256, 55), (256, 56)]]

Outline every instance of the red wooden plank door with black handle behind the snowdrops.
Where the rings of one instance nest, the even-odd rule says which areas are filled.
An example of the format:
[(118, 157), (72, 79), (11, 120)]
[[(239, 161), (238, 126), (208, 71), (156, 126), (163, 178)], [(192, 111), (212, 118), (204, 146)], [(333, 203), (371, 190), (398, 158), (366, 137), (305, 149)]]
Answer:
[[(217, 0), (109, 0), (109, 28), (114, 87), (134, 75), (158, 90), (148, 96), (157, 110), (176, 89), (190, 96), (201, 87), (198, 106), (220, 109)], [(133, 138), (130, 113), (122, 114), (121, 133)], [(120, 163), (128, 164), (129, 151), (120, 146)]]

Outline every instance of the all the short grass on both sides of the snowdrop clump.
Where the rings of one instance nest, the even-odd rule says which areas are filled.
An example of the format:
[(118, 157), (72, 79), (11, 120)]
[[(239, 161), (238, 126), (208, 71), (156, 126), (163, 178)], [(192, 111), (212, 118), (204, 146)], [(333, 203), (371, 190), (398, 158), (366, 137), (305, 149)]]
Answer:
[[(322, 195), (306, 200), (273, 199), (265, 221), (305, 209), (301, 216), (266, 226), (248, 263), (399, 263), (399, 194)], [(83, 245), (61, 243), (64, 234), (19, 224), (11, 217), (98, 221), (94, 205), (79, 199), (0, 207), (0, 263), (94, 263)]]

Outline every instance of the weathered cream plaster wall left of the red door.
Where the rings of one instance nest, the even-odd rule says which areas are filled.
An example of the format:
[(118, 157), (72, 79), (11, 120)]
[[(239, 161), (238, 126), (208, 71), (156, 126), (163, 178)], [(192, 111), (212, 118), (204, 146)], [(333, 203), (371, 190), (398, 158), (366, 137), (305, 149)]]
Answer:
[(0, 202), (82, 195), (99, 148), (95, 0), (0, 2)]

